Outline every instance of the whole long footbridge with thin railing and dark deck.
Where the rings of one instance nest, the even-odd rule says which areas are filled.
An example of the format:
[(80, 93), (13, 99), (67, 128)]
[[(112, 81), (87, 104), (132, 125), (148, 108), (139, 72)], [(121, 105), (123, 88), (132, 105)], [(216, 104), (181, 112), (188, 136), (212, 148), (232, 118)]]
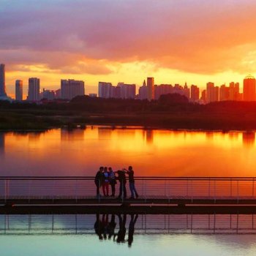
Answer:
[[(59, 209), (63, 211), (65, 207), (71, 211), (72, 205), (77, 211), (82, 205), (84, 210), (85, 205), (102, 209), (102, 206), (113, 208), (122, 203), (142, 208), (140, 213), (146, 211), (146, 205), (151, 206), (151, 211), (156, 206), (161, 208), (163, 206), (160, 205), (165, 205), (165, 212), (167, 206), (179, 206), (184, 213), (184, 208), (187, 208), (186, 212), (191, 212), (193, 208), (205, 205), (208, 208), (221, 206), (222, 213), (233, 213), (238, 206), (241, 206), (240, 209), (244, 208), (244, 211), (249, 209), (252, 212), (256, 209), (255, 179), (138, 177), (135, 184), (140, 197), (137, 200), (117, 200), (116, 197), (95, 197), (93, 177), (0, 177), (0, 203), (6, 205), (4, 208), (0, 207), (0, 212), (18, 211), (18, 207), (22, 206), (24, 209), (28, 205), (37, 209), (61, 205), (62, 208)], [(10, 205), (16, 207), (9, 207)], [(84, 213), (90, 212), (90, 208), (87, 209), (88, 212)]]

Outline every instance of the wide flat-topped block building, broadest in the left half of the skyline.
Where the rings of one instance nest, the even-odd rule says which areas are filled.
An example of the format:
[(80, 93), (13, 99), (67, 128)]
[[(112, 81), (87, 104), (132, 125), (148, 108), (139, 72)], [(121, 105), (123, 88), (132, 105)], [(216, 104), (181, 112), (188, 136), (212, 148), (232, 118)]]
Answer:
[(61, 80), (61, 98), (73, 99), (76, 96), (85, 94), (84, 82), (79, 80)]

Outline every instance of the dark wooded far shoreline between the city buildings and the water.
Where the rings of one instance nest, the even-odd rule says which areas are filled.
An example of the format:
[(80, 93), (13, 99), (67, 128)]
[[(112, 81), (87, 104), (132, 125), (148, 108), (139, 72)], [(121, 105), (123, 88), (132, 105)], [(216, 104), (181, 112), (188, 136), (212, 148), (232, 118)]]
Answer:
[(44, 104), (0, 102), (0, 130), (74, 129), (90, 125), (222, 132), (256, 130), (256, 102), (198, 105), (181, 96), (170, 96), (152, 102), (89, 97)]

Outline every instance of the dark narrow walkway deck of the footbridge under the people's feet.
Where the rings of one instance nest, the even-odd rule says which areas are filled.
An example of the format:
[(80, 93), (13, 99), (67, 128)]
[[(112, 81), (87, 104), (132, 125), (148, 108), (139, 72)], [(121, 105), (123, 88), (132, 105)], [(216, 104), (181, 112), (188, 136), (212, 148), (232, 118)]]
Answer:
[(186, 197), (186, 196), (159, 196), (151, 195), (139, 197), (138, 199), (118, 199), (116, 197), (93, 197), (93, 196), (12, 196), (7, 198), (0, 197), (0, 204), (33, 204), (33, 205), (120, 205), (127, 204), (171, 204), (171, 205), (256, 205), (256, 197)]

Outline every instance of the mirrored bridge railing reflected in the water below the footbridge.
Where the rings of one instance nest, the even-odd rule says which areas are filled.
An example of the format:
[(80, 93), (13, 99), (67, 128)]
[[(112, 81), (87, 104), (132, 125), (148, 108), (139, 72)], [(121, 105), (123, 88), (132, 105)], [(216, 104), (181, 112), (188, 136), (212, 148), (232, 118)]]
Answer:
[[(113, 215), (109, 214), (108, 223)], [(124, 218), (124, 215), (121, 215)], [(99, 215), (102, 219), (102, 215)], [(129, 227), (131, 216), (126, 216)], [(95, 214), (0, 215), (0, 235), (84, 235), (94, 234)], [(114, 219), (118, 231), (118, 216)], [(135, 234), (255, 234), (255, 214), (140, 214), (135, 223)]]

